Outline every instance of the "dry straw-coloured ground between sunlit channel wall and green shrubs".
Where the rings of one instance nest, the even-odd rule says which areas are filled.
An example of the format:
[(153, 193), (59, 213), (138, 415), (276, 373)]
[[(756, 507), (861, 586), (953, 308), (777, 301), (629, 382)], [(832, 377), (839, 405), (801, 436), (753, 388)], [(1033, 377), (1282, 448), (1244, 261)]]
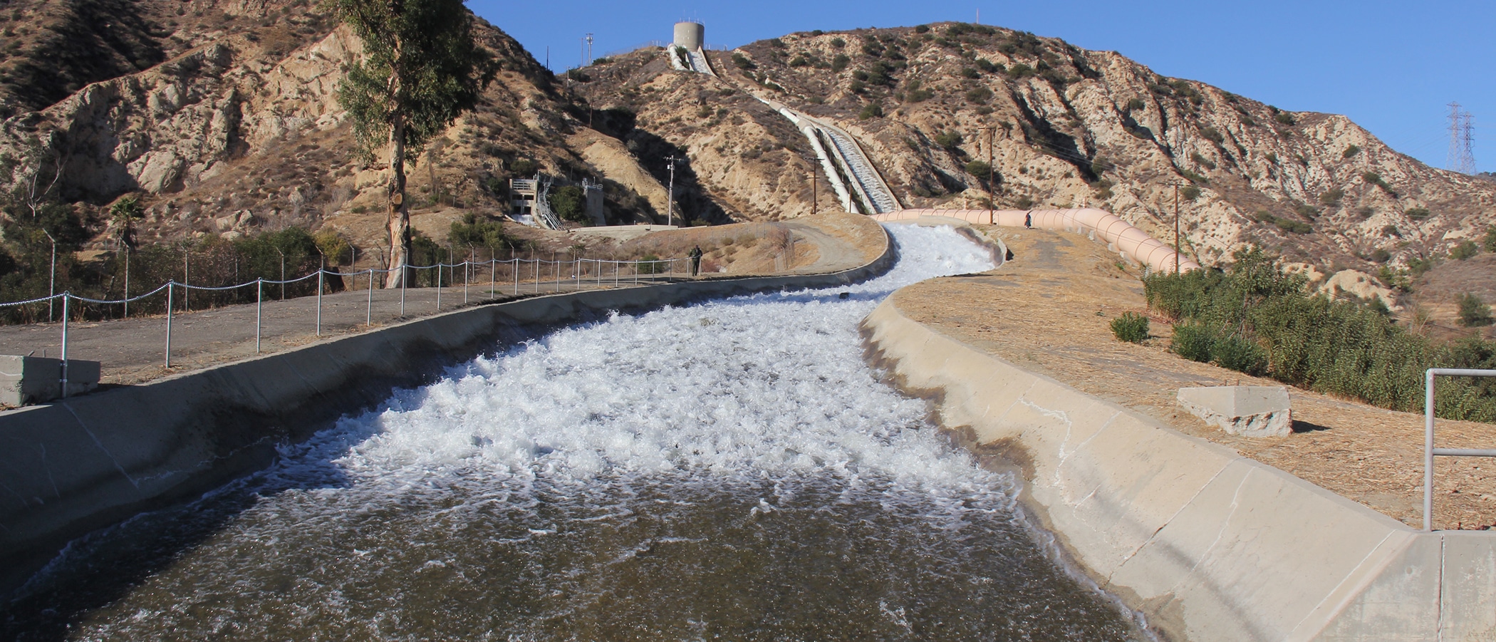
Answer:
[[(1423, 525), (1423, 415), (1290, 388), (1293, 435), (1222, 432), (1177, 407), (1179, 388), (1281, 383), (1168, 353), (1171, 329), (1158, 319), (1150, 328), (1155, 338), (1143, 346), (1113, 338), (1110, 320), (1125, 310), (1143, 311), (1146, 304), (1135, 268), (1119, 266), (1106, 245), (1079, 233), (1001, 227), (990, 233), (1008, 244), (1014, 260), (981, 275), (905, 287), (895, 304), (911, 319), (1017, 367), (1230, 446), (1405, 524)], [(1496, 425), (1441, 421), (1438, 441), (1492, 447)], [(1438, 459), (1436, 528), (1496, 525), (1493, 467), (1496, 461), (1481, 458)]]

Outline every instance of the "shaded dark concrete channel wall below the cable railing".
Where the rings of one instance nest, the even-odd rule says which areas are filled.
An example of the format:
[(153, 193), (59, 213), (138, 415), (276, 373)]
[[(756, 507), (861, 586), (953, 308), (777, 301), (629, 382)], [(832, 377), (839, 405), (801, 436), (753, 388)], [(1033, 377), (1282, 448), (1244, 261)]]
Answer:
[(268, 465), (275, 446), (396, 386), (560, 323), (706, 298), (833, 287), (895, 257), (812, 275), (588, 290), (462, 308), (141, 386), (0, 413), (0, 597), (69, 540)]

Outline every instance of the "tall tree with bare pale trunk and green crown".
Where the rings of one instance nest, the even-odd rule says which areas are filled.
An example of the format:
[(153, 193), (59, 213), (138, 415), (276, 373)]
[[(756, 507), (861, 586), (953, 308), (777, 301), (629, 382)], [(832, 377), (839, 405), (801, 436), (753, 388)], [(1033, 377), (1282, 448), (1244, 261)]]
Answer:
[[(405, 163), (434, 136), (473, 109), (492, 81), (492, 54), (473, 40), (473, 15), (462, 0), (325, 0), (361, 40), (364, 58), (349, 67), (338, 103), (349, 111), (353, 139), (367, 160), (389, 145), (390, 266), (410, 257)], [(399, 286), (404, 269), (389, 274)]]

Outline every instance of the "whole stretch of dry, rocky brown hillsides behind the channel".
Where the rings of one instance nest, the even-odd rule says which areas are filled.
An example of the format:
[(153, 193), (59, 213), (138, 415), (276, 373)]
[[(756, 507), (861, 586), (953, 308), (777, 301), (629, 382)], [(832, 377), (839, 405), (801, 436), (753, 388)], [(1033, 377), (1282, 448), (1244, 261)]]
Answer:
[[(0, 183), (45, 184), (60, 165), (57, 195), (99, 239), (100, 210), (136, 192), (145, 239), (331, 224), (383, 244), (384, 169), (350, 156), (334, 99), (358, 43), (314, 4), (13, 0), (0, 13), (18, 34), (0, 60)], [(479, 22), (503, 72), (410, 172), (428, 233), (501, 213), (525, 162), (601, 178), (615, 221), (663, 218), (669, 156), (685, 221), (790, 218), (812, 193), (835, 208), (805, 136), (760, 97), (854, 136), (904, 207), (1092, 205), (1167, 238), (1177, 187), (1186, 251), (1206, 265), (1257, 242), (1310, 274), (1376, 274), (1496, 223), (1496, 183), (1427, 168), (1345, 117), (1022, 31), (809, 31), (712, 51), (717, 76), (645, 48), (558, 78)], [(972, 163), (989, 151), (995, 186)]]

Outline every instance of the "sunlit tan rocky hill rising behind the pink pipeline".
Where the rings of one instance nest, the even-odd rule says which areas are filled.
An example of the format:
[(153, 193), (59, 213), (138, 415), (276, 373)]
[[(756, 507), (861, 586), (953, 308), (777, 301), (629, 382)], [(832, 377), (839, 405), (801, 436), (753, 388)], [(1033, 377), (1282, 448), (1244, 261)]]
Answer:
[[(781, 214), (808, 207), (808, 189), (773, 187), (803, 181), (811, 150), (767, 123), (745, 127), (758, 117), (729, 87), (851, 132), (905, 207), (1091, 205), (1167, 238), (1185, 186), (1186, 250), (1207, 265), (1257, 242), (1325, 271), (1375, 272), (1376, 250), (1403, 266), (1496, 221), (1496, 186), (1397, 154), (1345, 117), (1284, 112), (1056, 39), (938, 24), (796, 33), (709, 55), (720, 79), (673, 72), (648, 49), (589, 70), (582, 91), (688, 148), (706, 190), (749, 217), (761, 201)], [(995, 189), (968, 171), (987, 160), (989, 132)], [(755, 148), (788, 157), (755, 166), (745, 157)]]

